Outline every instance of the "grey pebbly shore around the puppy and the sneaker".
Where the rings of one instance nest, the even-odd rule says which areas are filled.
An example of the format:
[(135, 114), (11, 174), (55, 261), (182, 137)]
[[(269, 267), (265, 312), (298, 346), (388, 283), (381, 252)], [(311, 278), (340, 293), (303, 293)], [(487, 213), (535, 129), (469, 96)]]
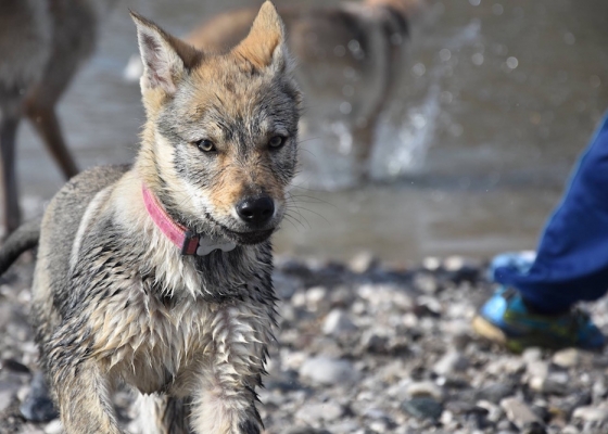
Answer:
[[(36, 370), (31, 257), (0, 285), (0, 433), (60, 433), (18, 413)], [(606, 433), (607, 354), (509, 354), (470, 329), (491, 293), (484, 266), (389, 267), (278, 258), (281, 298), (261, 412), (268, 433)], [(587, 306), (608, 331), (608, 302)], [(131, 431), (132, 396), (116, 407)]]

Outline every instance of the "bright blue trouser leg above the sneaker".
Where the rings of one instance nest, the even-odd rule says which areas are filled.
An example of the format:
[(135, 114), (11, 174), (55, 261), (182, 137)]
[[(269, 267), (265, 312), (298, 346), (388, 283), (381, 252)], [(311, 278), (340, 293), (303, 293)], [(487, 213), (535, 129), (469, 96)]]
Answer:
[(569, 309), (608, 290), (608, 115), (570, 179), (561, 204), (548, 219), (528, 271), (499, 267), (498, 283), (518, 289), (544, 312)]

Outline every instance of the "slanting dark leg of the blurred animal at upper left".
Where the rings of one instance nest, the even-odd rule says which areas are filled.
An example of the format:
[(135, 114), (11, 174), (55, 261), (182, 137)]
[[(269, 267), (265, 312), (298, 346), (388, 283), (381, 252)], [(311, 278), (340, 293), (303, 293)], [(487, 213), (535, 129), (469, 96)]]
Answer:
[(78, 174), (78, 167), (63, 140), (54, 106), (40, 106), (30, 102), (27, 105), (27, 116), (65, 178), (69, 179)]

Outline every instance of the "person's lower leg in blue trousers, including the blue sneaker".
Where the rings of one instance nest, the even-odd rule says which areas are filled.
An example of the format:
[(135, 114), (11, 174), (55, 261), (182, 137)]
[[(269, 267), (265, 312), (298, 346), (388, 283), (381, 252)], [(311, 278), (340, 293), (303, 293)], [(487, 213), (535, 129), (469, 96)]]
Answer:
[(588, 316), (572, 306), (608, 290), (608, 116), (548, 219), (535, 258), (502, 255), (492, 273), (502, 286), (473, 321), (481, 335), (516, 350), (604, 345)]

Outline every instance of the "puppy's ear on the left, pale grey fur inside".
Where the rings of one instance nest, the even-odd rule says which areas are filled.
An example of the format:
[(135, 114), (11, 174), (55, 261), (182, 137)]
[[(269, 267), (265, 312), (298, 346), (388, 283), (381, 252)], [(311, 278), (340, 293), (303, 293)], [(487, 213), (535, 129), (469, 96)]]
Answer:
[(132, 11), (131, 18), (143, 63), (142, 89), (160, 89), (173, 95), (186, 71), (199, 64), (203, 53)]

